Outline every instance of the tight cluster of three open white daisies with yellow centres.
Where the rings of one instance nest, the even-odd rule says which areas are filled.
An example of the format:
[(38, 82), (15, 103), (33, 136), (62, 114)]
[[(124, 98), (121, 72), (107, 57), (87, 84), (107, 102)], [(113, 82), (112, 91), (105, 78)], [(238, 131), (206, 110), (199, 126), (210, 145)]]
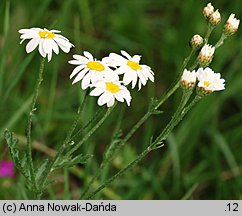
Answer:
[[(98, 105), (114, 105), (115, 100), (126, 101), (130, 105), (131, 95), (127, 85), (132, 88), (138, 83), (138, 89), (147, 84), (148, 80), (154, 82), (154, 73), (147, 65), (140, 64), (141, 56), (130, 56), (121, 51), (122, 55), (110, 53), (101, 60), (95, 59), (91, 53), (84, 51), (82, 55), (73, 55), (69, 63), (76, 65), (70, 79), (72, 84), (81, 81), (81, 88), (94, 88), (90, 95), (99, 96)], [(122, 79), (121, 79), (122, 77)]]

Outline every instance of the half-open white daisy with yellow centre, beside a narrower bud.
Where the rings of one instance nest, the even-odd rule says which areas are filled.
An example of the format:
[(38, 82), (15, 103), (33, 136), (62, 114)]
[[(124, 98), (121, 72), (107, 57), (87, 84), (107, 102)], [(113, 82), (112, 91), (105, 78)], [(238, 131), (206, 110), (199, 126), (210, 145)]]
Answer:
[(221, 79), (221, 74), (214, 73), (214, 71), (209, 67), (205, 69), (199, 68), (197, 71), (197, 79), (198, 87), (206, 93), (225, 89), (225, 80)]

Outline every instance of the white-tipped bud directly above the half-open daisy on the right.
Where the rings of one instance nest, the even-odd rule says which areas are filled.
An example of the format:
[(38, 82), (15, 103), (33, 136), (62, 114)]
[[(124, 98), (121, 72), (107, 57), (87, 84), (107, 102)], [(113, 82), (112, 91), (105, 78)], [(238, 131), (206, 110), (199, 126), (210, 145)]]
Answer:
[(212, 45), (205, 44), (198, 55), (199, 64), (202, 67), (209, 65), (213, 59), (215, 48)]

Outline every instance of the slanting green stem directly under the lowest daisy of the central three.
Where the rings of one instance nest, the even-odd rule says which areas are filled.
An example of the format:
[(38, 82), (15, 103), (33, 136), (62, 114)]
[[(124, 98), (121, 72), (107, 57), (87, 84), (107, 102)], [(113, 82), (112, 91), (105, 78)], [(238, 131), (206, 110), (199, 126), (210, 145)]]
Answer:
[(116, 106), (116, 103), (114, 106), (108, 108), (105, 115), (97, 122), (97, 124), (82, 138), (82, 140), (77, 143), (73, 148), (64, 156), (69, 157), (72, 153), (74, 153), (78, 148), (82, 146), (84, 142), (88, 140), (88, 138), (102, 125), (102, 123), (105, 121), (105, 119), (110, 115), (110, 113), (113, 111), (114, 107)]

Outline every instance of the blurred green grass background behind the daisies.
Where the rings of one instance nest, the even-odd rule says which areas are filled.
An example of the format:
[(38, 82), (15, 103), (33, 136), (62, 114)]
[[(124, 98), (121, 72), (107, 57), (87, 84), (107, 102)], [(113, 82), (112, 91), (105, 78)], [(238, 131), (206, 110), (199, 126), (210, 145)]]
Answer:
[[(130, 107), (118, 104), (81, 149), (94, 157), (84, 166), (54, 173), (55, 184), (46, 199), (78, 199), (95, 174), (102, 153), (121, 118), (126, 134), (147, 111), (151, 97), (159, 97), (175, 79), (189, 54), (194, 34), (204, 36), (206, 21), (202, 9), (207, 1), (195, 0), (1, 0), (0, 1), (0, 133), (15, 132), (21, 147), (40, 55), (27, 55), (19, 45), (21, 28), (59, 29), (75, 44), (71, 53), (60, 53), (46, 64), (34, 117), (34, 159), (38, 165), (51, 157), (66, 136), (84, 92), (72, 86), (67, 63), (72, 54), (88, 50), (97, 58), (126, 50), (141, 54), (141, 62), (155, 72), (155, 83), (141, 91), (132, 90)], [(210, 44), (220, 37), (230, 13), (241, 19), (241, 0), (212, 2), (222, 15), (222, 24), (212, 34)], [(242, 198), (242, 33), (241, 28), (216, 50), (211, 68), (222, 73), (226, 90), (204, 98), (175, 128), (165, 146), (152, 152), (131, 172), (106, 188), (96, 198), (103, 199), (241, 199)], [(97, 98), (89, 97), (81, 117), (85, 124), (100, 109)], [(151, 117), (125, 145), (94, 188), (128, 164), (169, 121), (180, 100), (178, 91)], [(3, 138), (0, 160), (10, 160)], [(64, 185), (64, 186), (63, 186)], [(94, 189), (93, 188), (93, 189)], [(0, 178), (0, 199), (29, 199), (24, 179)]]

